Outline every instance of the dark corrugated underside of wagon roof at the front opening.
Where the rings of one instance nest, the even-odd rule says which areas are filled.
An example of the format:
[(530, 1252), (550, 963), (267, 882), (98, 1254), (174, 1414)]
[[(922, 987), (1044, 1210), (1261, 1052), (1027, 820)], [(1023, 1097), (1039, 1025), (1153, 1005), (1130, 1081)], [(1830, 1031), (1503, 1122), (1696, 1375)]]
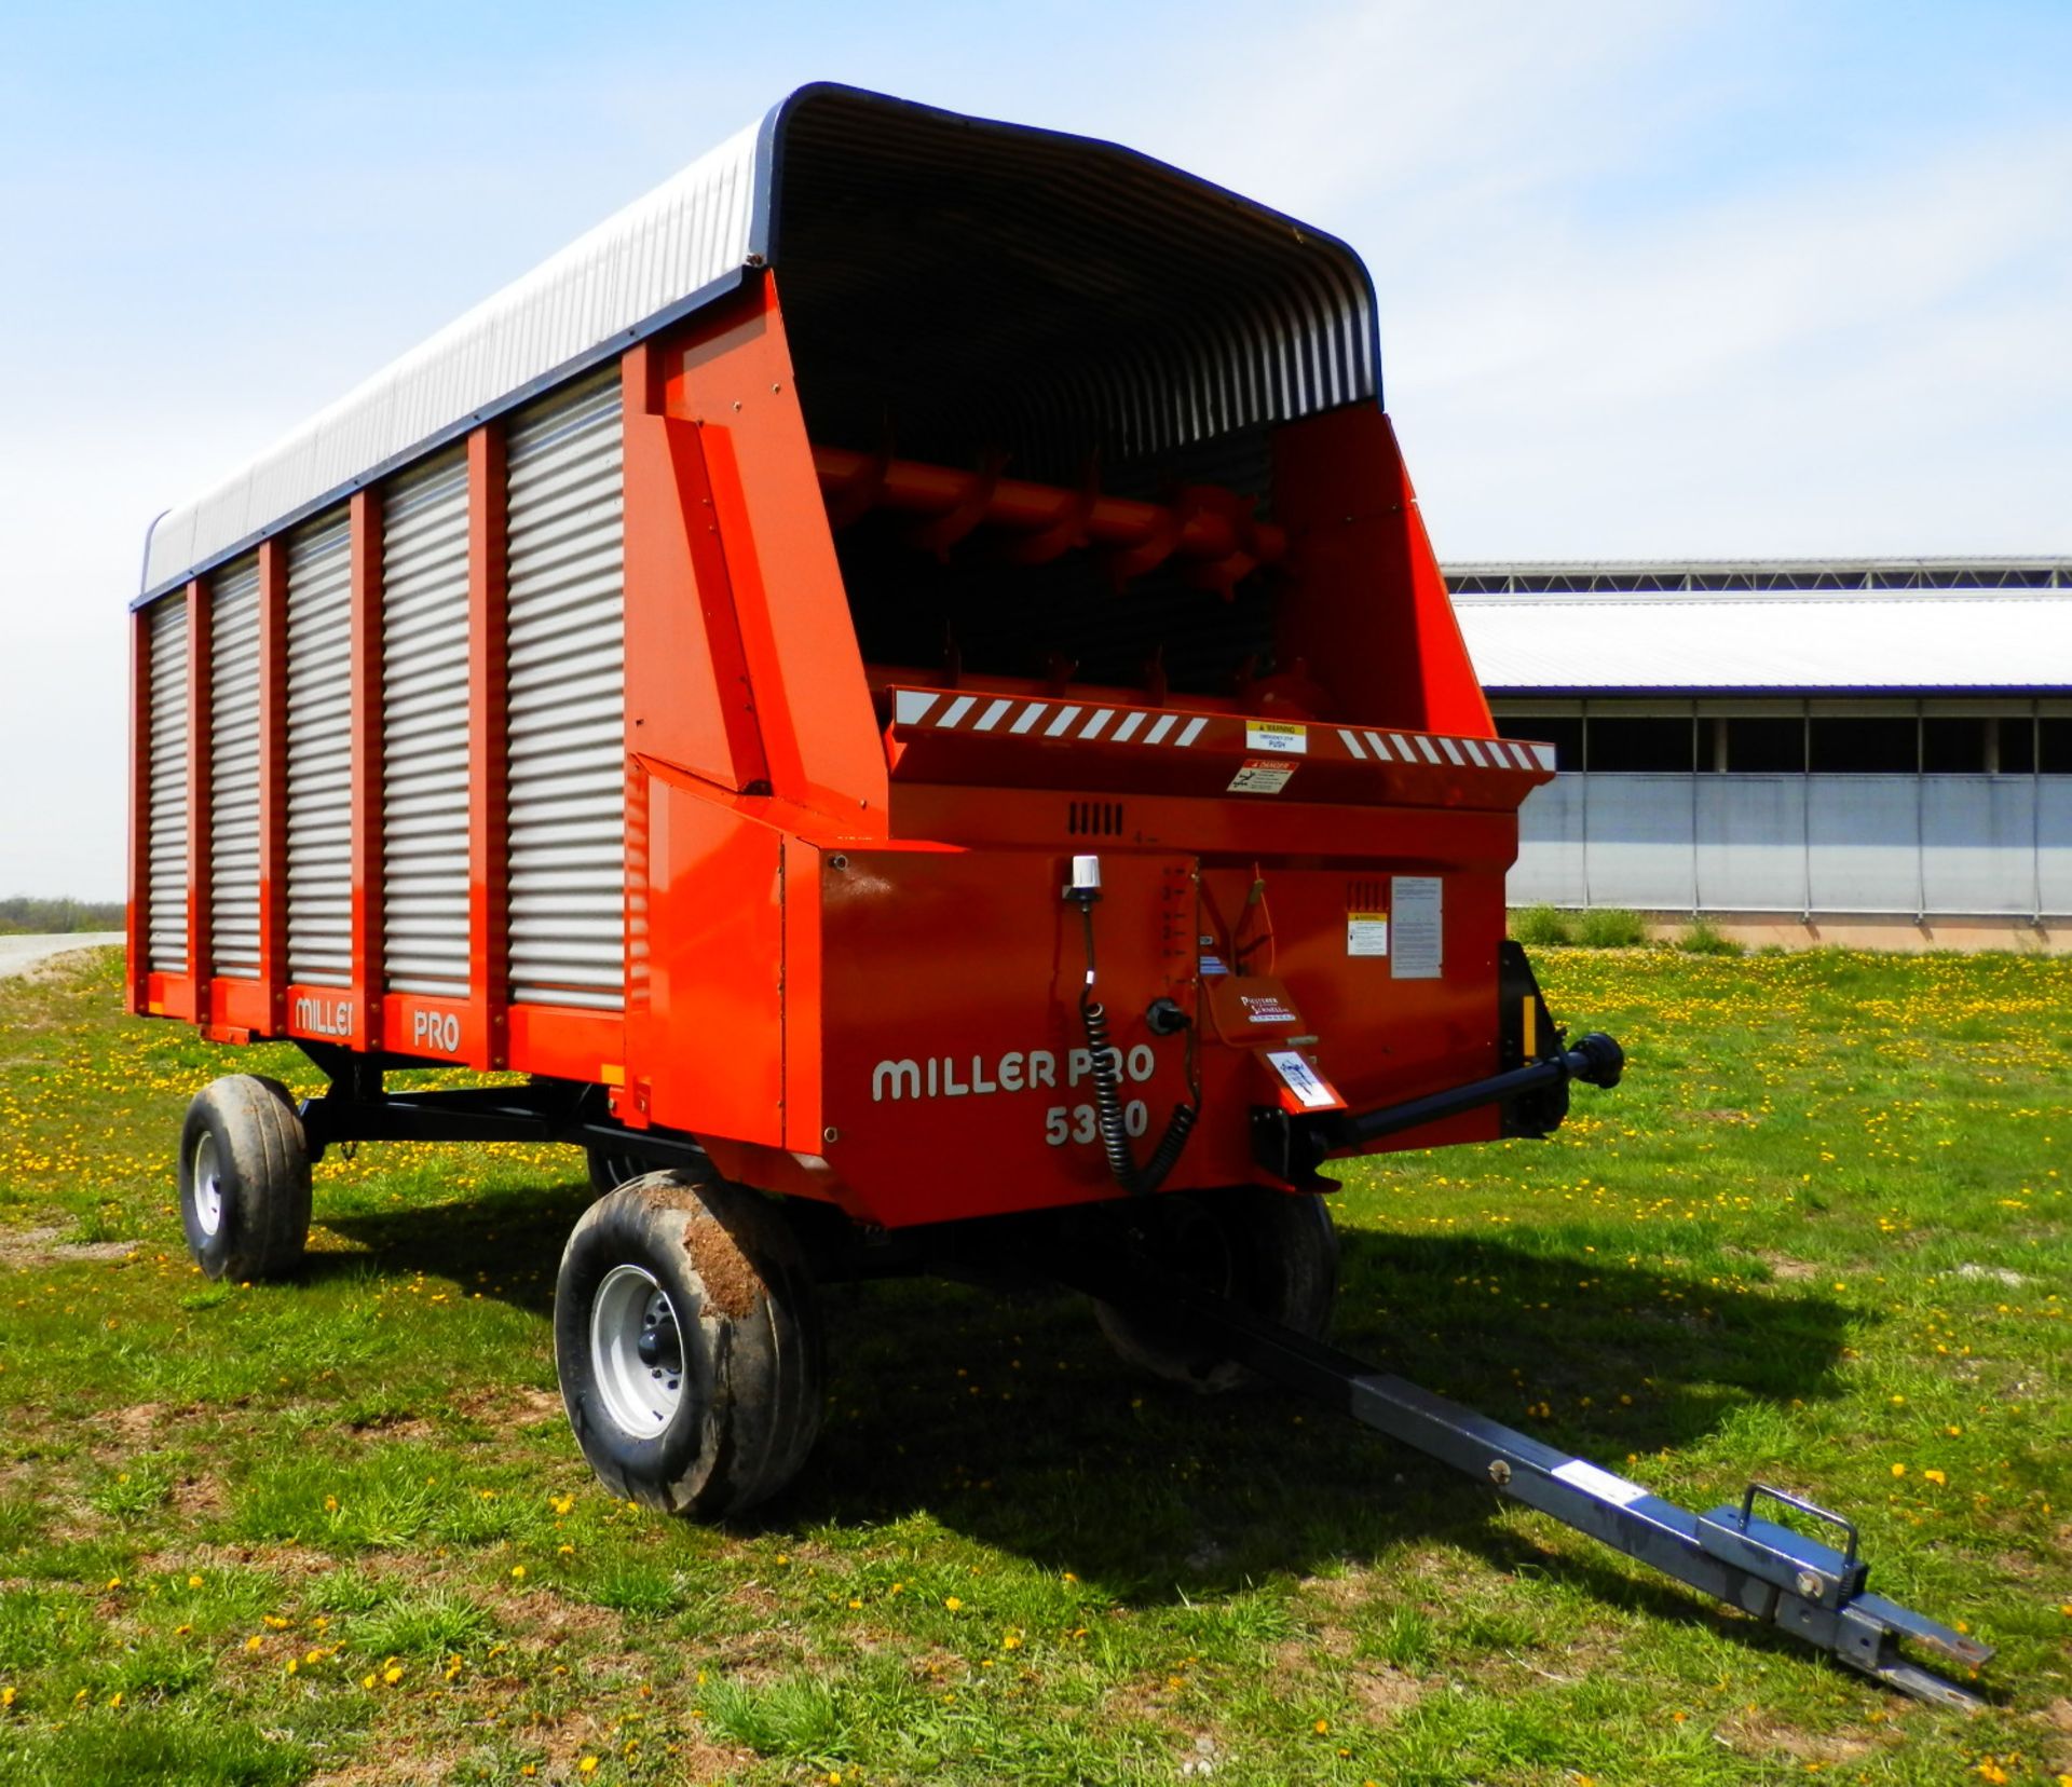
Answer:
[(1115, 145), (814, 89), (775, 182), (814, 439), (1071, 478), (1380, 391), (1345, 244)]

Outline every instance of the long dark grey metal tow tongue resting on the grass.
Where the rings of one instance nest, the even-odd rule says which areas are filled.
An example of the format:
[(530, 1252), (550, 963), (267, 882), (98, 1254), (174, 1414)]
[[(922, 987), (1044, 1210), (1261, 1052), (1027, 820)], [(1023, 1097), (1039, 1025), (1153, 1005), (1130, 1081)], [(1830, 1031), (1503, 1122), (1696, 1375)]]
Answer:
[[(1104, 1302), (1162, 1307), (1169, 1315), (1185, 1315), (1191, 1327), (1214, 1336), (1220, 1350), (1262, 1377), (1415, 1445), (1639, 1563), (1778, 1625), (1900, 1694), (1966, 1712), (1977, 1712), (1983, 1704), (1970, 1688), (1910, 1661), (1900, 1644), (1931, 1650), (1968, 1675), (1977, 1675), (1991, 1659), (1991, 1646), (1883, 1594), (1869, 1594), (1869, 1563), (1857, 1553), (1857, 1528), (1840, 1514), (1763, 1483), (1749, 1485), (1734, 1505), (1693, 1514), (1589, 1460), (1573, 1458), (1403, 1377), (1374, 1371), (1347, 1352), (1264, 1321), (1167, 1271), (1140, 1251), (1075, 1249), (1055, 1261), (1055, 1271)], [(1763, 1520), (1755, 1512), (1757, 1503), (1792, 1510), (1825, 1528), (1840, 1545)]]

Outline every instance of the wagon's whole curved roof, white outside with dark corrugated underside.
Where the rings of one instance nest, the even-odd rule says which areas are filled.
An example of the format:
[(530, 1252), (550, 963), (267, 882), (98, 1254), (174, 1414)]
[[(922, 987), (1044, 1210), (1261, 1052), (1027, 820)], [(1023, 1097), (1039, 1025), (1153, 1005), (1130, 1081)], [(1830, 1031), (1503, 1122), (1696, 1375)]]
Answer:
[[(839, 348), (810, 369), (816, 400), (862, 414), (872, 441), (891, 391), (951, 435), (978, 427), (955, 404), (990, 404), (984, 437), (1024, 449), (1017, 464), (1063, 412), (1113, 462), (1380, 396), (1374, 288), (1336, 238), (1113, 143), (821, 83), (162, 516), (139, 600), (765, 265), (794, 352), (816, 325)], [(957, 327), (930, 331), (937, 317)], [(1042, 416), (1003, 416), (1013, 404)]]

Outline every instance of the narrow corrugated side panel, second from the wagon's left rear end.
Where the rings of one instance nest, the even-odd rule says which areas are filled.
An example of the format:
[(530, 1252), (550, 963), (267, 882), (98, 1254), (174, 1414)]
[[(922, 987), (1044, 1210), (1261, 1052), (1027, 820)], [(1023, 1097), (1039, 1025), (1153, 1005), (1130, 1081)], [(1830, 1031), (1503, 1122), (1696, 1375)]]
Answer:
[(211, 973), (259, 975), (259, 559), (218, 572), (209, 596)]

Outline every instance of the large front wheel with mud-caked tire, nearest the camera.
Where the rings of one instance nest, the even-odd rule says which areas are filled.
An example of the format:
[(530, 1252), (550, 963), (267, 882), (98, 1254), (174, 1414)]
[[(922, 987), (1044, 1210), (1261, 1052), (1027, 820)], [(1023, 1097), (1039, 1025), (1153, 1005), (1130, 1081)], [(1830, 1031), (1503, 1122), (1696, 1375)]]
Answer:
[(599, 1481), (663, 1514), (754, 1507), (821, 1433), (806, 1255), (775, 1199), (727, 1180), (651, 1172), (584, 1211), (562, 1253), (553, 1356)]

